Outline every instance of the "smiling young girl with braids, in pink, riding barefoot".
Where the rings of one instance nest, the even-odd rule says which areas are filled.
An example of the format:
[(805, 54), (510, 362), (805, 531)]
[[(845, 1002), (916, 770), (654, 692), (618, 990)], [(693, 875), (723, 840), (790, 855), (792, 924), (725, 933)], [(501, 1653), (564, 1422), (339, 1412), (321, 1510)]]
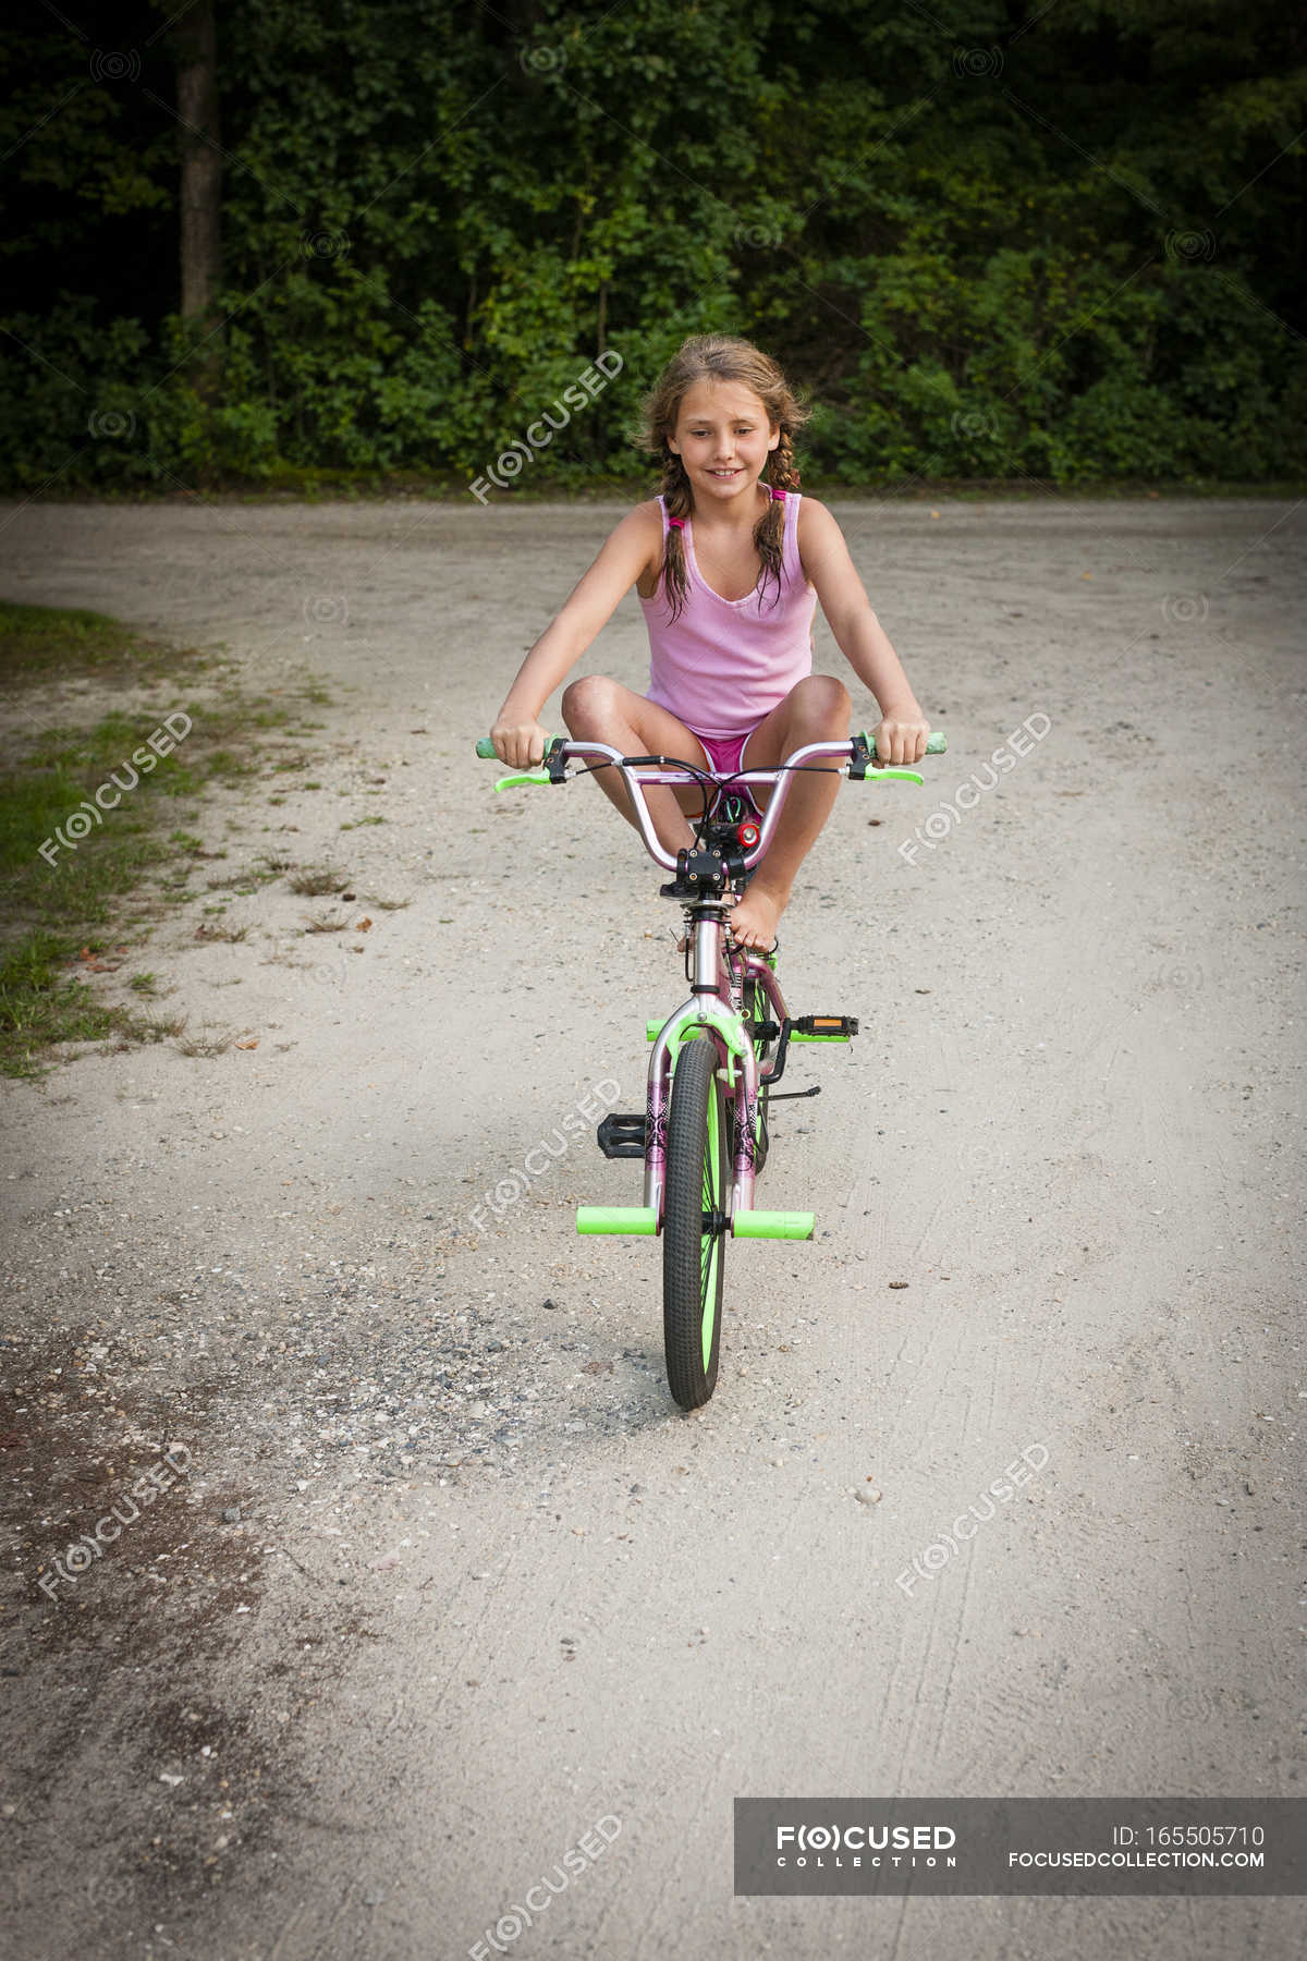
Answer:
[[(799, 496), (794, 431), (805, 420), (784, 375), (749, 341), (688, 339), (645, 402), (641, 441), (662, 490), (611, 531), (553, 626), (521, 663), (496, 716), (496, 755), (529, 769), (545, 753), (539, 712), (635, 586), (649, 626), (649, 692), (588, 675), (562, 696), (578, 741), (623, 755), (674, 755), (700, 769), (772, 769), (809, 741), (848, 735), (843, 680), (813, 675), (817, 600), (880, 710), (876, 755), (915, 763), (929, 724), (825, 504)], [(635, 824), (615, 771), (594, 779)], [(839, 777), (798, 773), (776, 835), (731, 912), (741, 945), (770, 949), (776, 922)], [(768, 792), (760, 790), (758, 800)], [(660, 841), (692, 845), (690, 788), (645, 790)]]

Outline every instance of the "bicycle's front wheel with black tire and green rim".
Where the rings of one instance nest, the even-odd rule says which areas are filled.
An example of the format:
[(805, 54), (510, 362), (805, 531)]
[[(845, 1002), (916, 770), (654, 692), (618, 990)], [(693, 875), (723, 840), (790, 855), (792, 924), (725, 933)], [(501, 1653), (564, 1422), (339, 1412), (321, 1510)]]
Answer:
[(666, 1122), (662, 1335), (666, 1379), (682, 1410), (698, 1410), (717, 1386), (731, 1179), (727, 1135), (717, 1049), (698, 1035), (676, 1055)]

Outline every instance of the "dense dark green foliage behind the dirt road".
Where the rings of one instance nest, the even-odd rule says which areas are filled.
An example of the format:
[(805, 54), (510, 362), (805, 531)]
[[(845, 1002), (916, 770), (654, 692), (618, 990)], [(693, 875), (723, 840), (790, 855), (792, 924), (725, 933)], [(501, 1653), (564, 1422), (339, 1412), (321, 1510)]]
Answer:
[(1295, 8), (218, 0), (208, 337), (172, 12), (8, 41), (10, 486), (464, 482), (604, 349), (533, 469), (629, 477), (703, 329), (811, 394), (827, 478), (1307, 469)]

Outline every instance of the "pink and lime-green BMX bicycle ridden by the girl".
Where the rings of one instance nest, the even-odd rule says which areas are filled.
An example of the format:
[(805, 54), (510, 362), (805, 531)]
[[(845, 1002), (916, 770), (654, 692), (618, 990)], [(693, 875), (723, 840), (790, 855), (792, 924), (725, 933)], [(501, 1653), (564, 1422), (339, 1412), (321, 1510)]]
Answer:
[[(937, 731), (927, 753), (941, 755), (944, 747)], [(476, 753), (494, 759), (494, 745), (482, 737)], [(764, 955), (737, 947), (727, 914), (772, 841), (790, 777), (798, 771), (831, 769), (829, 759), (843, 757), (835, 773), (854, 782), (919, 784), (925, 779), (915, 769), (876, 763), (866, 733), (807, 743), (774, 769), (733, 775), (715, 775), (678, 757), (623, 757), (607, 743), (553, 735), (539, 769), (500, 777), (496, 790), (566, 782), (566, 765), (586, 757), (598, 761), (576, 769), (574, 777), (621, 771), (645, 849), (674, 875), (660, 892), (684, 908), (690, 998), (666, 1020), (645, 1026), (645, 1039), (653, 1041), (645, 1110), (609, 1112), (598, 1128), (605, 1157), (645, 1161), (643, 1204), (578, 1206), (576, 1232), (662, 1237), (668, 1386), (682, 1410), (698, 1410), (717, 1386), (727, 1237), (813, 1237), (811, 1212), (762, 1212), (752, 1202), (768, 1157), (770, 1104), (821, 1092), (821, 1084), (813, 1084), (778, 1096), (790, 1047), (850, 1041), (858, 1033), (854, 1016), (790, 1016), (776, 980), (776, 947)], [(674, 857), (660, 843), (645, 802), (643, 790), (654, 784), (698, 784), (703, 796), (702, 814), (692, 822), (694, 845)], [(747, 794), (749, 784), (772, 786), (764, 812)]]

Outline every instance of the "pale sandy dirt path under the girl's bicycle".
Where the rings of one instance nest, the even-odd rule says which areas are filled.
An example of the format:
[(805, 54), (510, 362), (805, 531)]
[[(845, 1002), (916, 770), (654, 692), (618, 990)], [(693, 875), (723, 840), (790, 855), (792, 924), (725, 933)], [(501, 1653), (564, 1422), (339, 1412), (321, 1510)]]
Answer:
[[(335, 686), (321, 790), (204, 822), (355, 894), (159, 930), (257, 1047), (4, 1084), (10, 1953), (1301, 1951), (1293, 1900), (731, 1890), (737, 1794), (1301, 1788), (1307, 508), (839, 516), (950, 753), (847, 786), (792, 908), (790, 1002), (862, 1037), (801, 1059), (762, 1202), (819, 1235), (731, 1247), (684, 1420), (654, 1251), (570, 1226), (637, 1167), (523, 1169), (637, 1106), (674, 914), (588, 786), (470, 759), (613, 514), (0, 512), (8, 598)], [(592, 665), (643, 684), (633, 600)]]

